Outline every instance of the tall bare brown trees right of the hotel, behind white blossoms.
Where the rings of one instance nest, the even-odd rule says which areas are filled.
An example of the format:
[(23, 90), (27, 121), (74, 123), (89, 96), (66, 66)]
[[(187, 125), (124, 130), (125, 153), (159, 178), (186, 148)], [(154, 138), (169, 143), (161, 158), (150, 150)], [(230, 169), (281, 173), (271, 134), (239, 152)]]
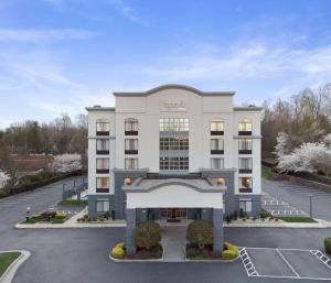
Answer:
[(331, 132), (331, 84), (306, 88), (288, 99), (279, 98), (274, 105), (264, 102), (261, 121), (263, 159), (275, 159), (277, 137), (287, 137), (284, 154), (302, 143), (323, 142)]

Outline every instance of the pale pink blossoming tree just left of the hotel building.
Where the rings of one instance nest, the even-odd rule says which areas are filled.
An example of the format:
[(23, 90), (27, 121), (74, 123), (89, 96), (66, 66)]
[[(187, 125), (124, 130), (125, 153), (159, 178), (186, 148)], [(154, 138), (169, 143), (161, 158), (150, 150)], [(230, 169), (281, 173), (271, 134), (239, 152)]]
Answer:
[(62, 173), (82, 170), (82, 156), (76, 153), (55, 155), (51, 168)]

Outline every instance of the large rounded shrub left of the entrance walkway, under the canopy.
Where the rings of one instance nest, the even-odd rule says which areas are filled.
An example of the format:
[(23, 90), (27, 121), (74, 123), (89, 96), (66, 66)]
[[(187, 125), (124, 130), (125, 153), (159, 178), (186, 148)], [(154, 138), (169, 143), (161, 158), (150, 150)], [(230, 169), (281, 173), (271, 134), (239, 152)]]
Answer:
[(134, 231), (135, 246), (150, 249), (161, 240), (160, 225), (153, 221), (143, 221), (137, 225)]

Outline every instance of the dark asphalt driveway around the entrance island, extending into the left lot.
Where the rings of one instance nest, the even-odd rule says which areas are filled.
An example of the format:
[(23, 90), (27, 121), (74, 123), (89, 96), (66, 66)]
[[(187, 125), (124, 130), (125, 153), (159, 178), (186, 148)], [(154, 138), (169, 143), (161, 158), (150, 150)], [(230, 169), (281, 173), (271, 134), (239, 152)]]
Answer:
[[(292, 277), (248, 277), (241, 260), (228, 264), (114, 263), (108, 259), (108, 251), (125, 239), (125, 228), (13, 228), (24, 216), (28, 205), (33, 211), (40, 211), (57, 203), (63, 182), (73, 179), (6, 199), (11, 205), (0, 200), (0, 250), (24, 249), (32, 253), (19, 269), (14, 283), (301, 282), (301, 279), (293, 281)], [(322, 250), (322, 241), (330, 235), (331, 229), (225, 228), (225, 240), (247, 249)], [(270, 258), (265, 264), (273, 265), (275, 262)], [(316, 281), (310, 279), (302, 282)]]

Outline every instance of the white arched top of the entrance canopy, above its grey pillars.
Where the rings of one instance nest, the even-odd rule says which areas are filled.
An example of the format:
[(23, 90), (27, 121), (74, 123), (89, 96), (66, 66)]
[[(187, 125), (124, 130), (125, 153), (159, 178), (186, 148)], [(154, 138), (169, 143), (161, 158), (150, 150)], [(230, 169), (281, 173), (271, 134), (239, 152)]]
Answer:
[(209, 179), (137, 179), (122, 186), (127, 208), (223, 208), (225, 186)]

